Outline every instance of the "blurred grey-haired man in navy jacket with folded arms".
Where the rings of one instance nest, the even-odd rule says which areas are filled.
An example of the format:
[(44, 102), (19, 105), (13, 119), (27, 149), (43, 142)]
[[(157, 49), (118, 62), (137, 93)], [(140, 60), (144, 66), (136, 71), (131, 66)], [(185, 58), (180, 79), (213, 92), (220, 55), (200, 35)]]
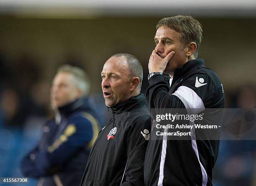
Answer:
[(21, 162), (38, 186), (77, 186), (98, 134), (98, 117), (88, 99), (90, 83), (75, 66), (59, 67), (51, 87), (54, 118), (42, 128), (38, 145)]

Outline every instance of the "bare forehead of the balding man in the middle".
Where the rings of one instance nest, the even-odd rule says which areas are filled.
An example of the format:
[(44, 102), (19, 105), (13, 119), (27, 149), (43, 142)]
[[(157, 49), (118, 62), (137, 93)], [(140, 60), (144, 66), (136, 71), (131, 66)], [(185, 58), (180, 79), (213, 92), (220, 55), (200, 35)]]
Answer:
[(124, 56), (113, 56), (105, 62), (102, 73), (128, 74), (128, 63)]

